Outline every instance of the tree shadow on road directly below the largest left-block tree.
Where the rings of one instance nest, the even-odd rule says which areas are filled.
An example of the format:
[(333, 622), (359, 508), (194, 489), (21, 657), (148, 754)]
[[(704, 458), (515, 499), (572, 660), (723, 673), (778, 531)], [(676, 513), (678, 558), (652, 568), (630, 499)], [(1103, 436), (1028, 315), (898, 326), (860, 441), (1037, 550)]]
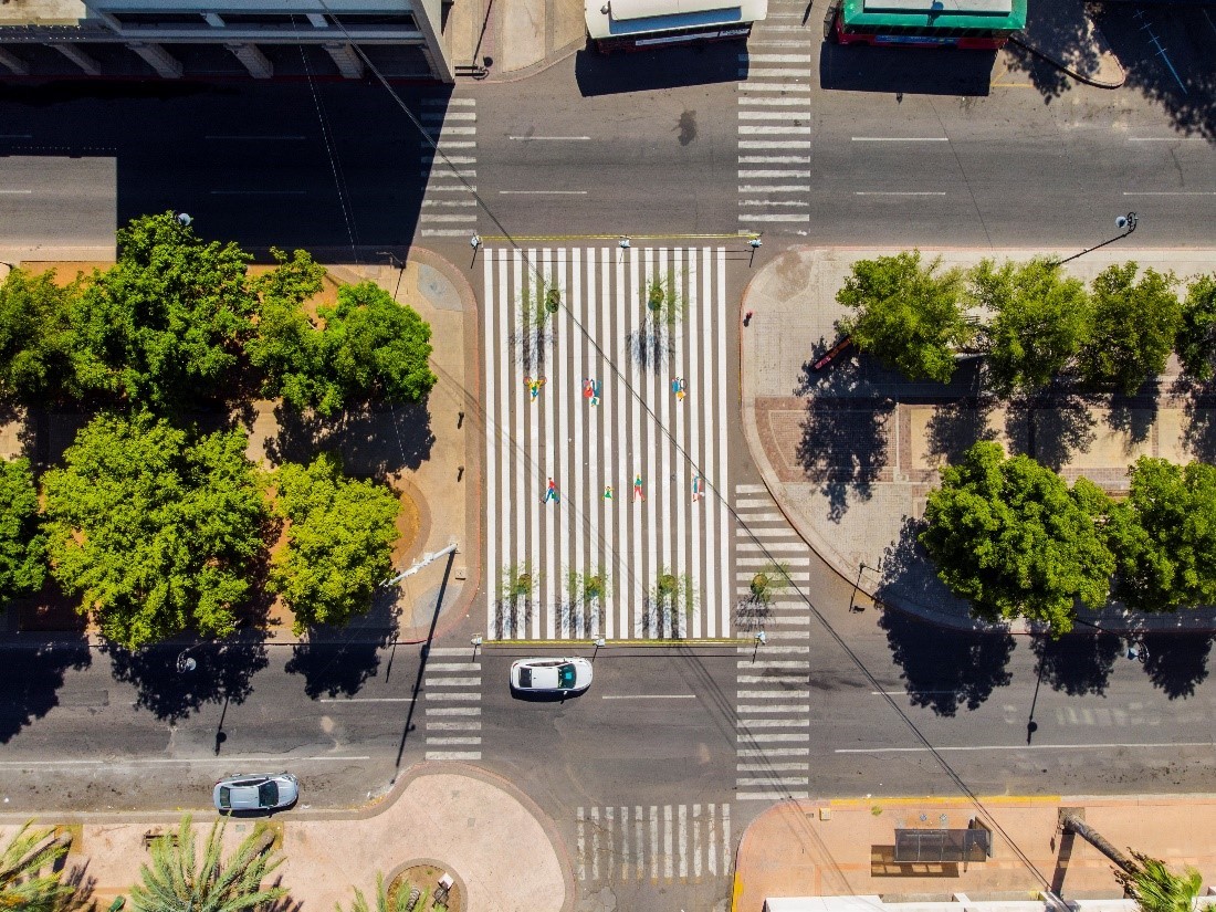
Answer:
[[(260, 632), (190, 646), (162, 643), (135, 652), (114, 643), (109, 654), (116, 681), (135, 687), (135, 705), (157, 719), (176, 722), (207, 703), (244, 703), (253, 693), (253, 676), (266, 668), (266, 643)], [(179, 671), (179, 658), (195, 660)]]

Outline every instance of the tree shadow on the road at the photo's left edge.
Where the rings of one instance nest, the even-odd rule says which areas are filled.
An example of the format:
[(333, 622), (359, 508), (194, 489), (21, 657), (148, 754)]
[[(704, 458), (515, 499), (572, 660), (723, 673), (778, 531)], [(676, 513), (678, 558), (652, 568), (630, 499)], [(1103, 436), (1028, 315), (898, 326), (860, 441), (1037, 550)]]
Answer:
[(58, 705), (56, 691), (63, 686), (68, 669), (79, 671), (91, 664), (89, 641), (83, 634), (71, 640), (54, 634), (36, 646), (5, 648), (0, 663), (0, 744), (7, 744)]

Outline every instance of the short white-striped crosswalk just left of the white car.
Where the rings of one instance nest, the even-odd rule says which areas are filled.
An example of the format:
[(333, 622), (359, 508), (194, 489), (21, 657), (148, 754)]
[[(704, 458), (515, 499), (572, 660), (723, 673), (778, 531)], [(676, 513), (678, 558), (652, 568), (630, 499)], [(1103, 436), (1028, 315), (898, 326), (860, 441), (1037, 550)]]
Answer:
[(427, 760), (482, 759), (482, 663), (469, 647), (432, 647), (422, 680)]

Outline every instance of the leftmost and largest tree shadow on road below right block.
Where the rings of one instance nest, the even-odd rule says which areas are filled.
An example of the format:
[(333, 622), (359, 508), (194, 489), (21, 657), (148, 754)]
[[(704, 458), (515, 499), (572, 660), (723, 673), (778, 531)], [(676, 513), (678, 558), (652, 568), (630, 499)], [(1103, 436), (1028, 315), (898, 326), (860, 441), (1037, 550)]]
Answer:
[(902, 669), (900, 679), (912, 705), (939, 716), (979, 709), (992, 691), (1013, 680), (1006, 670), (1014, 649), (1008, 630), (947, 630), (891, 608), (878, 626)]

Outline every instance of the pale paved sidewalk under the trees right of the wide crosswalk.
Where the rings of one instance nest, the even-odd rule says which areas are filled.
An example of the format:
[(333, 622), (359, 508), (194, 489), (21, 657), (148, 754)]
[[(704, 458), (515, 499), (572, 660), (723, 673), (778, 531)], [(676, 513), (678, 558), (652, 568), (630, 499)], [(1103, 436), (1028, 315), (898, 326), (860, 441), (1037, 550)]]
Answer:
[[(815, 361), (837, 340), (845, 314), (837, 289), (855, 259), (894, 249), (794, 248), (759, 270), (742, 310), (743, 428), (753, 458), (786, 517), (849, 582), (884, 603), (955, 627), (979, 627), (967, 606), (938, 580), (914, 541), (912, 522), (924, 513), (936, 468), (980, 437), (1029, 452), (1108, 490), (1126, 489), (1127, 466), (1141, 455), (1188, 462), (1211, 458), (1216, 402), (1171, 392), (1171, 364), (1153, 396), (1115, 402), (1058, 398), (1055, 407), (1025, 410), (1008, 402), (979, 406), (975, 367), (961, 366), (948, 387), (912, 383), (850, 350), (831, 366)], [(924, 250), (942, 266), (967, 266), (985, 255), (1029, 259), (1042, 250)], [(1065, 266), (1088, 281), (1111, 263), (1136, 260), (1159, 271), (1192, 276), (1211, 270), (1216, 252), (1149, 250), (1113, 246)], [(788, 327), (800, 327), (790, 333)], [(861, 569), (866, 564), (868, 569)], [(877, 568), (877, 570), (874, 569)], [(1108, 609), (1082, 618), (1104, 626), (1144, 630), (1214, 630), (1216, 610), (1125, 617)], [(1014, 625), (1024, 631), (1024, 625)]]

